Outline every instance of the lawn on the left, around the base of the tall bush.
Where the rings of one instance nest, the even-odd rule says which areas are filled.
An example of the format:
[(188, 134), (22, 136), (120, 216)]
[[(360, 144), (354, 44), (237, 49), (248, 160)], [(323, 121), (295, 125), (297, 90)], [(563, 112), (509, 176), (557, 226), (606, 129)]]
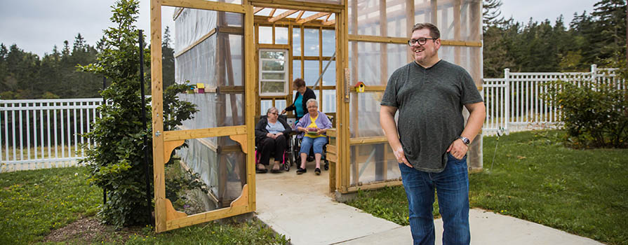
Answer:
[(87, 174), (84, 167), (0, 174), (0, 244), (288, 244), (256, 220), (116, 231), (95, 218), (102, 190)]

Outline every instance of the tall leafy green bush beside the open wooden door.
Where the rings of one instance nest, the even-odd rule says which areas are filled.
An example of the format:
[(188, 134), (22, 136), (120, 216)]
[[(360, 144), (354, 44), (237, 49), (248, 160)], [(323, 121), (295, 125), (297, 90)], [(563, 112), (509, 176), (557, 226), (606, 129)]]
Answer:
[[(140, 48), (139, 33), (133, 24), (139, 13), (137, 0), (119, 0), (112, 6), (112, 22), (116, 27), (105, 30), (103, 50), (97, 62), (80, 66), (79, 69), (107, 77), (111, 85), (101, 92), (110, 103), (98, 108), (101, 118), (96, 118), (93, 130), (84, 137), (97, 142), (86, 150), (83, 160), (90, 169), (93, 185), (107, 190), (107, 202), (98, 215), (105, 223), (116, 228), (148, 224), (152, 204), (147, 205), (144, 160), (144, 136), (148, 142), (149, 181), (152, 185), (152, 129), (142, 124), (142, 106), (145, 106), (147, 122), (151, 122), (151, 108), (142, 104), (140, 96)], [(143, 38), (143, 37), (142, 37)], [(150, 60), (148, 49), (145, 60)], [(149, 84), (148, 82), (145, 84)], [(164, 130), (171, 129), (183, 120), (192, 118), (195, 105), (181, 102), (176, 94), (185, 92), (187, 85), (171, 85), (163, 94)], [(152, 188), (148, 193), (153, 197)]]

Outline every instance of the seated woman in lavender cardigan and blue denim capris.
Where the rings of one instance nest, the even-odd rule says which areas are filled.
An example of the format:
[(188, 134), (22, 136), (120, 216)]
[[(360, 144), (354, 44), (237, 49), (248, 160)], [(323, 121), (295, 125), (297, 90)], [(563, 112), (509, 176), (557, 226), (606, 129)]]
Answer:
[(314, 159), (316, 160), (316, 175), (321, 174), (321, 157), (323, 155), (323, 146), (327, 144), (327, 129), (331, 128), (329, 118), (319, 111), (319, 102), (316, 99), (309, 99), (305, 102), (307, 105), (307, 113), (299, 120), (296, 128), (302, 137), (301, 149), (301, 166), (297, 169), (297, 174), (303, 174), (306, 171), (305, 162), (310, 148), (314, 148)]

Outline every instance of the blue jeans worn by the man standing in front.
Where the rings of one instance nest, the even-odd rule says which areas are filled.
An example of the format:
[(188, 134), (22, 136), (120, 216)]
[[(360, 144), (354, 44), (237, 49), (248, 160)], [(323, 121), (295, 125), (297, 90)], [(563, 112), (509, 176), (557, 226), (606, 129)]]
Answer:
[(422, 172), (399, 164), (403, 188), (410, 209), (410, 231), (414, 244), (433, 245), (434, 188), (443, 217), (443, 245), (469, 244), (469, 176), (467, 157), (457, 160), (447, 154), (447, 166), (440, 173)]

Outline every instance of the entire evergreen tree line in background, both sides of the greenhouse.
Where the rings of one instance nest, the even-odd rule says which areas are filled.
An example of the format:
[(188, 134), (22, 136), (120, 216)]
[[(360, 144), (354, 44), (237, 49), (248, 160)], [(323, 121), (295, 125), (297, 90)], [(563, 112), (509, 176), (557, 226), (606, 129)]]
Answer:
[[(501, 0), (483, 0), (483, 71), (486, 78), (511, 71), (588, 71), (591, 64), (610, 66), (626, 59), (627, 3), (601, 0), (592, 13), (574, 13), (570, 23), (561, 15), (549, 20), (516, 22), (501, 16)], [(170, 30), (162, 42), (163, 84), (174, 83), (174, 57)], [(102, 39), (88, 45), (77, 34), (70, 47), (55, 46), (39, 57), (13, 44), (0, 43), (0, 99), (53, 99), (100, 97), (102, 77), (77, 71), (102, 52)]]

